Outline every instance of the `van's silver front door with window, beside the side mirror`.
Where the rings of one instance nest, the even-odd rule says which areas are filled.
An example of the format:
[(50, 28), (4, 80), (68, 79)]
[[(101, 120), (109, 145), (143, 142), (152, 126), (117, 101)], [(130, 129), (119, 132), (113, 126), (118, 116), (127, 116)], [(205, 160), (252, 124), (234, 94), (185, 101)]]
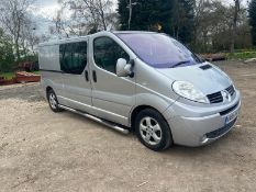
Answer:
[(100, 117), (127, 125), (131, 109), (135, 104), (135, 78), (118, 77), (115, 66), (119, 58), (129, 61), (130, 56), (110, 36), (94, 37), (90, 46), (93, 109)]

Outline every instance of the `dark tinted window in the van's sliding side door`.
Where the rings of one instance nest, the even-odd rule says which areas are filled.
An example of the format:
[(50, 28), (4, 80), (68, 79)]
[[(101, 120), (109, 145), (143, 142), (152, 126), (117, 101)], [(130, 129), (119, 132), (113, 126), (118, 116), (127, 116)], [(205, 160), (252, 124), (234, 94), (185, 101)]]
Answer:
[(87, 42), (59, 45), (59, 61), (64, 72), (81, 75), (87, 65)]

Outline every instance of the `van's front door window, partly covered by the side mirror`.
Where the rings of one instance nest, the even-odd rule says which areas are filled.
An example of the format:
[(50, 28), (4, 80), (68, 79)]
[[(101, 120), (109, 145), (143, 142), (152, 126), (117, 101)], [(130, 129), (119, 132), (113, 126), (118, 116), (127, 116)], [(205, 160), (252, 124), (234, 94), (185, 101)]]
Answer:
[(123, 48), (109, 37), (98, 37), (94, 39), (93, 54), (96, 65), (113, 74), (115, 74), (119, 58), (130, 60), (130, 56)]

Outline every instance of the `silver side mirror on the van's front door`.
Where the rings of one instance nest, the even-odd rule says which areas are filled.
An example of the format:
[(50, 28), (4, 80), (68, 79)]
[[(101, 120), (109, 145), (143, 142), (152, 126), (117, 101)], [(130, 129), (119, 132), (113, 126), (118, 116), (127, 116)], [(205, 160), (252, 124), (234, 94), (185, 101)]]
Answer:
[(133, 65), (127, 64), (127, 61), (124, 58), (118, 59), (116, 63), (116, 76), (118, 77), (133, 77)]

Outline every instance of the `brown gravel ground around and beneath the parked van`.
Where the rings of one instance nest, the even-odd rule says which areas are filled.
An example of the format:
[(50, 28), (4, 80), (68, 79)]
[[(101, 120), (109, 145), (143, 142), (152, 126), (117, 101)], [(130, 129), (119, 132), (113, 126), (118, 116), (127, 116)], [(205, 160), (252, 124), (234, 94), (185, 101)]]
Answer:
[(243, 94), (229, 135), (199, 148), (154, 153), (69, 112), (40, 87), (0, 87), (0, 191), (256, 191), (256, 64), (222, 63)]

